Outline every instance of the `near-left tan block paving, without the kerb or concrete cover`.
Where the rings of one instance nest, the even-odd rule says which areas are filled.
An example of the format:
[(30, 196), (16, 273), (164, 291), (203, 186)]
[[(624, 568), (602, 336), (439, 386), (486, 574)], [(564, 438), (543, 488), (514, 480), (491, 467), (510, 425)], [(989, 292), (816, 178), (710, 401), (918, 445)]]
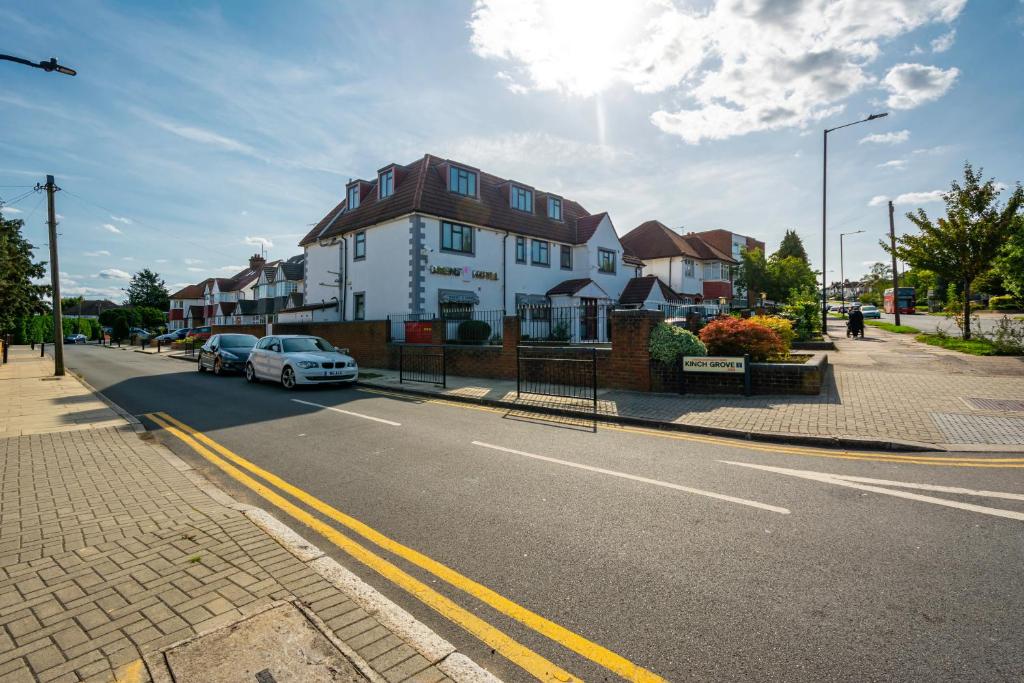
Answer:
[[(0, 369), (5, 409), (45, 375), (12, 358)], [(75, 383), (46, 383), (51, 395), (36, 392), (36, 409), (84, 396)], [(454, 648), (428, 660), (430, 648), (389, 628), (379, 603), (314, 571), (248, 506), (116, 415), (89, 410), (96, 425), (0, 435), (0, 681), (148, 681), (141, 657), (292, 599), (383, 680), (452, 680), (432, 661)]]

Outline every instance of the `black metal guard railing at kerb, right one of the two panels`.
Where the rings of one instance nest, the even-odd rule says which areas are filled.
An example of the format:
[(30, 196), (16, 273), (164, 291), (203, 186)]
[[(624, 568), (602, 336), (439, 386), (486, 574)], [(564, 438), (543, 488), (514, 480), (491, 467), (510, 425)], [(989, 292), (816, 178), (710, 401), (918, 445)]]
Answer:
[(597, 415), (597, 349), (578, 346), (517, 346), (516, 396), (553, 396), (566, 408)]

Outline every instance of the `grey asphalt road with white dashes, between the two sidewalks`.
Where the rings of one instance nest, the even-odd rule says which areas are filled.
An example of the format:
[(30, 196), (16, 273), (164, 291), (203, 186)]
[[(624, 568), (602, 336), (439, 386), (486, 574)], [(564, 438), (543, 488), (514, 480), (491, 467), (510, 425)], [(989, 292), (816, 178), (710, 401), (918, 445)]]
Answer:
[[(595, 432), (357, 388), (292, 393), (95, 346), (70, 346), (67, 357), (130, 413), (166, 412), (666, 680), (1024, 678), (1024, 469)], [(143, 422), (233, 496), (269, 509)], [(501, 678), (532, 680), (327, 539), (271, 512)], [(379, 552), (583, 680), (622, 680)]]

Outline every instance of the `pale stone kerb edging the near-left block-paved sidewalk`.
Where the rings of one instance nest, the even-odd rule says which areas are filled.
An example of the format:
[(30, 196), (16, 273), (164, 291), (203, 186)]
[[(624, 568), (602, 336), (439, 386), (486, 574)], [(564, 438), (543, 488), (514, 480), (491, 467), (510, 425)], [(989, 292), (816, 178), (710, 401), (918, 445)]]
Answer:
[[(133, 415), (104, 396), (86, 382), (78, 373), (68, 371), (85, 388), (106, 403), (115, 413), (125, 419), (135, 433), (146, 432), (145, 426)], [(324, 580), (344, 593), (349, 599), (372, 614), (384, 627), (406, 641), (431, 665), (456, 683), (502, 683), (502, 680), (471, 658), (459, 652), (455, 645), (439, 636), (410, 612), (392, 602), (383, 593), (366, 583), (317, 546), (307, 541), (291, 526), (285, 524), (268, 511), (240, 503), (226, 492), (207, 479), (191, 465), (179, 458), (169, 447), (159, 441), (150, 441), (158, 454), (172, 467), (184, 474), (203, 493), (215, 502), (241, 512), (253, 524), (276, 541), (303, 564), (319, 574)], [(303, 610), (309, 614), (309, 610)], [(243, 616), (246, 618), (246, 616)], [(202, 634), (201, 634), (202, 635)], [(333, 637), (333, 633), (331, 634)], [(332, 639), (332, 642), (337, 640)], [(347, 645), (341, 649), (346, 655), (351, 650)], [(351, 658), (351, 657), (350, 657)], [(375, 679), (371, 679), (375, 680)]]

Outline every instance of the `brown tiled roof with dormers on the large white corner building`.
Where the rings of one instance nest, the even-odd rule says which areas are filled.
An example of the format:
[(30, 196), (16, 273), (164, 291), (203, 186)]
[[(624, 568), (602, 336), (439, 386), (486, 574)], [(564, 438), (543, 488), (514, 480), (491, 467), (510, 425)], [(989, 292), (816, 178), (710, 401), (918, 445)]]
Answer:
[[(431, 155), (406, 166), (396, 166), (398, 172), (395, 174), (394, 193), (390, 197), (377, 199), (375, 178), (371, 183), (372, 190), (359, 201), (357, 208), (345, 211), (345, 202), (342, 201), (299, 244), (344, 234), (414, 211), (566, 244), (583, 244), (586, 242), (584, 234), (593, 234), (597, 226), (596, 223), (591, 226), (592, 218), (583, 221), (581, 227), (578, 221), (589, 216), (587, 210), (564, 198), (561, 198), (562, 220), (548, 218), (546, 202), (541, 201), (548, 195), (540, 190), (534, 193), (532, 213), (513, 209), (509, 204), (510, 181), (483, 171), (477, 171), (479, 198), (451, 193), (445, 177), (450, 165), (473, 168)], [(597, 221), (600, 222), (600, 218)]]

